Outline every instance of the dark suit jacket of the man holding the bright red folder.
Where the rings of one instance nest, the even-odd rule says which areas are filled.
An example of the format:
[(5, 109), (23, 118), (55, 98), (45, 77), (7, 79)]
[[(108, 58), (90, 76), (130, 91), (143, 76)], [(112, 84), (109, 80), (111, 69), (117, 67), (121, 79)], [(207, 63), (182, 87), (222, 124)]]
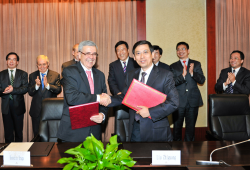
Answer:
[[(125, 88), (121, 95), (112, 96), (109, 107), (120, 105), (133, 79), (139, 78), (140, 68), (129, 72), (125, 80)], [(175, 88), (171, 71), (154, 65), (147, 81), (147, 85), (166, 94), (164, 103), (149, 108), (152, 119), (140, 117), (140, 133), (142, 142), (172, 141), (172, 133), (167, 116), (173, 113), (179, 105), (178, 92)], [(149, 97), (150, 98), (150, 97)], [(136, 112), (129, 109), (129, 140), (133, 130)]]

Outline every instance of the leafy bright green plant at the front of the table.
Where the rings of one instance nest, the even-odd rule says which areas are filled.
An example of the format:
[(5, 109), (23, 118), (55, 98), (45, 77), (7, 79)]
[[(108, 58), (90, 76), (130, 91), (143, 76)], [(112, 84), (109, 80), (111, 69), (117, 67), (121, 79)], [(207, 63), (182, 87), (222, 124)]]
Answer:
[[(129, 156), (131, 154), (128, 150), (118, 150), (117, 135), (109, 139), (106, 149), (103, 143), (98, 141), (92, 134), (86, 140), (75, 148), (71, 148), (65, 153), (74, 155), (75, 158), (61, 158), (57, 163), (67, 165), (63, 170), (70, 169), (130, 169), (128, 167), (134, 166), (136, 161)], [(84, 146), (84, 148), (82, 147)]]

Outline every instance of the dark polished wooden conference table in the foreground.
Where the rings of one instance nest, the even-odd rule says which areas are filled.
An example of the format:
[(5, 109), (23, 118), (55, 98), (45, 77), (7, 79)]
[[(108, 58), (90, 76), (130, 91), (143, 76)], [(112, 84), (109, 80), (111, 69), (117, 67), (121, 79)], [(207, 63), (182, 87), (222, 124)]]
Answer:
[[(236, 143), (236, 142), (235, 142)], [(149, 143), (152, 145), (152, 143)], [(197, 166), (196, 160), (209, 160), (212, 150), (222, 146), (232, 144), (231, 141), (204, 141), (204, 142), (172, 142), (170, 145), (173, 150), (181, 150), (180, 166), (151, 166), (150, 158), (134, 158), (137, 161), (132, 169), (191, 169), (191, 170), (235, 170), (249, 169), (250, 167), (250, 143), (243, 143), (230, 148), (216, 151), (212, 155), (213, 161), (223, 160), (232, 165), (231, 167), (220, 166)], [(0, 144), (2, 146), (4, 144)], [(76, 147), (79, 143), (56, 143), (47, 157), (31, 157), (31, 169), (62, 169), (64, 165), (56, 163), (61, 157), (69, 157), (71, 155), (64, 152), (72, 147)], [(105, 144), (106, 145), (106, 144)], [(122, 146), (121, 146), (122, 147)], [(145, 148), (146, 149), (146, 148)], [(3, 159), (0, 159), (3, 164)], [(8, 167), (1, 167), (6, 169)], [(11, 168), (13, 169), (13, 167)], [(27, 169), (27, 168), (23, 168)]]

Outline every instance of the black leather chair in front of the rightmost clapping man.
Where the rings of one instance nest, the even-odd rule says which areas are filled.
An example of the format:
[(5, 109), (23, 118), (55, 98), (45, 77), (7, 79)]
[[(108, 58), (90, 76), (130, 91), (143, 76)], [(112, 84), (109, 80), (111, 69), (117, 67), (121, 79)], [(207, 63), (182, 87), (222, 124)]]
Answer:
[(246, 140), (250, 138), (249, 99), (244, 94), (209, 95), (208, 140)]

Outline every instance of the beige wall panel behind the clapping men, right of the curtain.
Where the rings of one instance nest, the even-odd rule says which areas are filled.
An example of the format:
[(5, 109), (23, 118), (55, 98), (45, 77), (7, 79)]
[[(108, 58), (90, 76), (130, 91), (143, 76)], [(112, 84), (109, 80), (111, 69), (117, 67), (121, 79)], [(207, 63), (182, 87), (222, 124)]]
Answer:
[[(207, 77), (206, 1), (146, 0), (146, 36), (153, 45), (163, 49), (162, 62), (178, 60), (175, 46), (185, 41), (189, 57), (201, 62)], [(204, 105), (199, 109), (196, 127), (207, 126), (207, 81), (199, 86)]]

